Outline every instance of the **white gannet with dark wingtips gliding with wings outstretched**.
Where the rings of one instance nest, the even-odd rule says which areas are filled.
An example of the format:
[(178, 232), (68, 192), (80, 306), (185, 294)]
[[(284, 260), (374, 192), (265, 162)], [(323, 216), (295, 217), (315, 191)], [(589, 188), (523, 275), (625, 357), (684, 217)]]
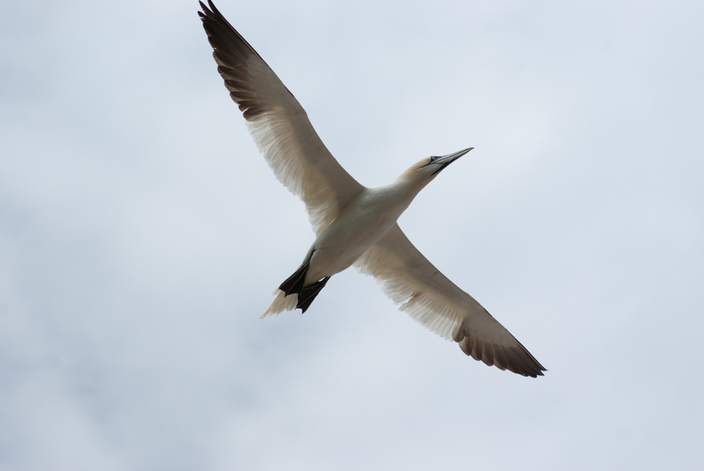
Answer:
[(230, 98), (277, 180), (305, 203), (316, 236), (262, 318), (296, 308), (305, 313), (330, 277), (354, 266), (374, 277), (399, 310), (455, 341), (467, 356), (525, 377), (543, 376), (547, 370), (538, 360), (398, 227), (418, 192), (473, 148), (422, 158), (393, 182), (363, 186), (332, 156), (298, 100), (213, 2), (199, 4)]

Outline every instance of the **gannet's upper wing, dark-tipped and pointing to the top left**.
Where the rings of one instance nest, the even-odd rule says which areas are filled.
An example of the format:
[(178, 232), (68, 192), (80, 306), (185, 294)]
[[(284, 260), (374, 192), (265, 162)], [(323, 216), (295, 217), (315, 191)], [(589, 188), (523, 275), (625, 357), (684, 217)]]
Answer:
[(218, 72), (259, 151), (285, 187), (306, 203), (316, 234), (363, 189), (322, 143), (298, 100), (213, 3), (199, 11)]

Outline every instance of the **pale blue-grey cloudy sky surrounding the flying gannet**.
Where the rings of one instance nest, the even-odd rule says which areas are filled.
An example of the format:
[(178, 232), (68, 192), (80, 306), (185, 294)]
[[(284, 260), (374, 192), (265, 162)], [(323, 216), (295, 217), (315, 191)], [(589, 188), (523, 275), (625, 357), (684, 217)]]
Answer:
[(217, 5), (363, 184), (476, 148), (399, 223), (549, 371), (260, 320), (314, 236), (197, 2), (2, 0), (0, 470), (703, 469), (701, 1)]

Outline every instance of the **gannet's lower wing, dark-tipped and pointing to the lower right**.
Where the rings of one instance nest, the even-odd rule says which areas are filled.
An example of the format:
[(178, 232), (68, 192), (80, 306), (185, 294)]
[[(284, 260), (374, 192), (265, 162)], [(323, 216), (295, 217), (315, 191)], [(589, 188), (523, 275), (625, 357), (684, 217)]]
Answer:
[(453, 339), (475, 360), (524, 376), (542, 367), (486, 309), (443, 275), (394, 224), (355, 262), (372, 275), (400, 310), (445, 339)]

